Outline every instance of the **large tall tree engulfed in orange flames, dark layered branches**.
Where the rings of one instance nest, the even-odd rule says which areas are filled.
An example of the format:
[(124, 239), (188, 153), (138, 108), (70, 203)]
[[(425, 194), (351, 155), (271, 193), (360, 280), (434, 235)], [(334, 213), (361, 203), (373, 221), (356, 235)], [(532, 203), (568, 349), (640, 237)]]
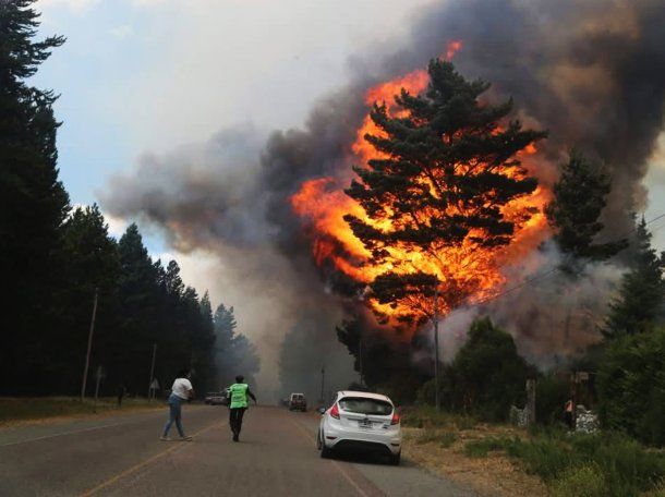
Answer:
[(500, 283), (498, 253), (534, 214), (523, 199), (536, 180), (518, 154), (546, 135), (507, 119), (512, 100), (481, 101), (489, 84), (450, 62), (431, 61), (428, 78), (374, 104), (374, 154), (346, 190), (363, 210), (344, 220), (370, 253), (372, 307), (412, 324), (432, 314), (435, 288), (445, 313)]

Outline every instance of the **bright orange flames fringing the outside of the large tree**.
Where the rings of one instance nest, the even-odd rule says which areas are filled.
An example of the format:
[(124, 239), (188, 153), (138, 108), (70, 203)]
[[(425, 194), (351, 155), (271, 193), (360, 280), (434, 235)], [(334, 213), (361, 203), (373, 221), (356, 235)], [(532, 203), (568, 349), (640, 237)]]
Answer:
[[(461, 41), (451, 41), (448, 45), (447, 58), (451, 58), (460, 48)], [(396, 95), (399, 96), (404, 90), (419, 94), (426, 88), (427, 83), (426, 71), (414, 71), (370, 88), (365, 102), (368, 106), (385, 105), (390, 114), (404, 116), (406, 110), (399, 107)], [(368, 160), (380, 158), (380, 153), (365, 140), (367, 134), (375, 136), (383, 134), (370, 114), (364, 118), (351, 147), (354, 157), (363, 165)], [(528, 170), (535, 167), (533, 161), (537, 160), (536, 153), (532, 144), (520, 154), (520, 159)], [(531, 163), (528, 163), (529, 161)], [(512, 172), (507, 171), (507, 174), (510, 173)], [(520, 260), (547, 235), (547, 221), (542, 207), (549, 201), (551, 193), (539, 186), (533, 194), (516, 198), (504, 206), (504, 216), (516, 227), (512, 241), (507, 246), (481, 247), (477, 241), (473, 241), (473, 237), (468, 237), (461, 246), (442, 246), (434, 253), (396, 243), (386, 247), (389, 255), (383, 264), (373, 265), (368, 263), (370, 252), (353, 234), (343, 217), (352, 215), (382, 231), (390, 231), (391, 221), (388, 217), (379, 220), (370, 218), (355, 201), (344, 194), (344, 186), (347, 184), (334, 178), (310, 180), (304, 182), (300, 191), (291, 197), (291, 204), (295, 214), (305, 219), (312, 230), (310, 234), (316, 264), (322, 266), (327, 262), (331, 263), (338, 270), (359, 283), (370, 283), (386, 271), (402, 276), (422, 271), (435, 275), (442, 281), (444, 289), (446, 286), (455, 286), (462, 290), (462, 294), (471, 295), (471, 302), (477, 301), (500, 290), (505, 283), (505, 276), (500, 270), (503, 266)], [(471, 234), (483, 235), (480, 231)], [(414, 308), (421, 308), (423, 313), (427, 312), (430, 302), (418, 302), (419, 299), (414, 299), (413, 302), (388, 305), (371, 298), (367, 303), (375, 312), (387, 316), (389, 323), (398, 325), (399, 318), (412, 313)], [(439, 307), (442, 314), (446, 314), (455, 306), (445, 299), (439, 303), (442, 304), (443, 308)]]

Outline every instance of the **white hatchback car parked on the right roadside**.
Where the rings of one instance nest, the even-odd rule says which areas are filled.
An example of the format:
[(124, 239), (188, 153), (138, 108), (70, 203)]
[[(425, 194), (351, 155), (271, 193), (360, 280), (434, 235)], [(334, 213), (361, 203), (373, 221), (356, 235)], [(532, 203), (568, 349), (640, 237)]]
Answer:
[(338, 391), (322, 413), (316, 443), (322, 458), (332, 451), (376, 451), (399, 464), (402, 432), (392, 401), (366, 391)]

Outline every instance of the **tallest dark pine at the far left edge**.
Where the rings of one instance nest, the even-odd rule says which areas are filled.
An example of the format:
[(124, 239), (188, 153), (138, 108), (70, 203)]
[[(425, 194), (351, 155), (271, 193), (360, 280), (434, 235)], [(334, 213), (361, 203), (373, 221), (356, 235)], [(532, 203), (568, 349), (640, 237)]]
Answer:
[(33, 3), (0, 2), (0, 274), (11, 282), (11, 291), (5, 286), (1, 295), (0, 373), (25, 379), (35, 373), (25, 357), (39, 363), (48, 349), (50, 295), (59, 269), (53, 254), (69, 209), (58, 180), (57, 97), (26, 84), (64, 39), (34, 40), (39, 14)]

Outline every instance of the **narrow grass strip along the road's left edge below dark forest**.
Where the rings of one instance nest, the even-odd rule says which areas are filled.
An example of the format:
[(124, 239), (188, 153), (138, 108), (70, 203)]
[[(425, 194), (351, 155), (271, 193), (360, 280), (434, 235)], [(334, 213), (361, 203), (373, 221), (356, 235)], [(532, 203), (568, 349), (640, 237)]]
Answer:
[(162, 408), (159, 400), (148, 402), (143, 398), (125, 398), (120, 409), (114, 397), (99, 398), (96, 404), (92, 399), (81, 402), (76, 397), (0, 398), (0, 426), (24, 421), (131, 412), (158, 407)]

